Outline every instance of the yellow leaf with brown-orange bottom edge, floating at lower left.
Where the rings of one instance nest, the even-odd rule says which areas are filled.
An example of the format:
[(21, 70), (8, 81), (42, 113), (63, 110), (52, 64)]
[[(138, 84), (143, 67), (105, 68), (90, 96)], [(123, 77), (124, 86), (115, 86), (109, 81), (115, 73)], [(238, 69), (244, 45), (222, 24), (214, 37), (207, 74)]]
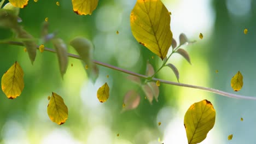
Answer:
[(59, 125), (66, 122), (68, 118), (68, 108), (60, 95), (54, 92), (52, 93), (47, 106), (47, 113), (51, 121)]

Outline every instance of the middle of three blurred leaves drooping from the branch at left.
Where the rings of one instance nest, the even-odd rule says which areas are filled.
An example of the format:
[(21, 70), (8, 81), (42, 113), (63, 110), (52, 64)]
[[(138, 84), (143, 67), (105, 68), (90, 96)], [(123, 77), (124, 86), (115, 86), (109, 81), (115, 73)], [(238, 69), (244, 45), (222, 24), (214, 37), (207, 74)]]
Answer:
[(57, 52), (61, 77), (63, 79), (63, 75), (66, 73), (67, 65), (68, 65), (67, 45), (64, 43), (62, 39), (54, 39), (53, 45)]

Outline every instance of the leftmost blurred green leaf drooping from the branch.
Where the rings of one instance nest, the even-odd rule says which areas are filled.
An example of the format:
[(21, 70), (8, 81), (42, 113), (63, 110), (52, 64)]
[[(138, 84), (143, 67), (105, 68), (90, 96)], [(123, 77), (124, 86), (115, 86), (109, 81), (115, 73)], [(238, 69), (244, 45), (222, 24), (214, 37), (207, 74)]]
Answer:
[(37, 55), (37, 44), (34, 41), (33, 36), (28, 32), (26, 32), (24, 29), (20, 28), (17, 31), (17, 33), (18, 33), (18, 37), (22, 39), (22, 43), (25, 45), (28, 56), (30, 57), (30, 61), (33, 65), (34, 59), (36, 59), (36, 55)]

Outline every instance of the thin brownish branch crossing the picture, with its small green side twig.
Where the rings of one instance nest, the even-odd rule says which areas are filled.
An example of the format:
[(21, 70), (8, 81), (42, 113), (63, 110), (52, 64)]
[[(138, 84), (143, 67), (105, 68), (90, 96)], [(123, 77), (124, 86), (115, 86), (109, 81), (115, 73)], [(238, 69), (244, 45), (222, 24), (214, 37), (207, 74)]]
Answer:
[[(19, 45), (19, 46), (24, 46), (23, 43), (19, 42), (19, 41), (0, 41), (0, 43), (2, 44), (10, 44), (10, 45)], [(39, 46), (37, 47), (37, 49), (39, 49)], [(178, 49), (178, 47), (177, 47)], [(49, 49), (48, 47), (44, 47), (44, 51), (49, 51), (49, 52), (53, 52), (56, 53), (55, 50), (53, 49)], [(174, 51), (173, 51), (174, 52)], [(172, 52), (172, 53), (173, 53)], [(171, 54), (172, 54), (171, 53)], [(171, 55), (170, 55), (171, 56)], [(170, 56), (168, 58), (170, 58)], [(72, 53), (68, 53), (68, 57), (72, 57), (72, 58), (76, 58), (76, 59), (81, 59), (79, 56), (74, 55)], [(167, 59), (168, 59), (167, 58)], [(106, 68), (110, 68), (110, 69), (114, 69), (114, 70), (118, 70), (121, 71), (123, 73), (129, 74), (129, 75), (133, 75), (133, 76), (137, 76), (137, 77), (141, 77), (143, 79), (148, 79), (148, 76), (146, 75), (142, 75), (142, 74), (138, 74), (138, 73), (134, 73), (130, 70), (126, 70), (126, 69), (122, 69), (119, 67), (115, 67), (113, 65), (107, 64), (107, 63), (103, 63), (100, 61), (95, 61), (93, 60), (93, 62), (95, 64), (101, 65), (103, 67)], [(167, 61), (166, 61), (167, 62)], [(165, 63), (166, 63), (165, 62)], [(165, 64), (163, 64), (165, 65)], [(160, 68), (159, 68), (160, 69)], [(159, 71), (159, 70), (158, 70)], [(203, 91), (207, 91), (207, 92), (212, 92), (212, 93), (216, 93), (219, 95), (223, 95), (225, 97), (230, 97), (230, 98), (238, 98), (238, 99), (248, 99), (248, 100), (256, 100), (256, 97), (249, 97), (249, 96), (244, 96), (244, 95), (238, 95), (238, 94), (232, 94), (232, 93), (228, 93), (228, 92), (224, 92), (224, 91), (219, 91), (218, 89), (214, 89), (214, 88), (207, 88), (207, 87), (201, 87), (201, 86), (194, 86), (194, 85), (188, 85), (185, 83), (178, 83), (178, 82), (172, 82), (172, 81), (166, 81), (166, 80), (162, 80), (162, 79), (156, 79), (156, 78), (152, 78), (152, 81), (160, 81), (161, 83), (166, 83), (168, 85), (174, 85), (174, 86), (180, 86), (180, 87), (190, 87), (190, 88), (195, 88), (195, 89), (201, 89)]]

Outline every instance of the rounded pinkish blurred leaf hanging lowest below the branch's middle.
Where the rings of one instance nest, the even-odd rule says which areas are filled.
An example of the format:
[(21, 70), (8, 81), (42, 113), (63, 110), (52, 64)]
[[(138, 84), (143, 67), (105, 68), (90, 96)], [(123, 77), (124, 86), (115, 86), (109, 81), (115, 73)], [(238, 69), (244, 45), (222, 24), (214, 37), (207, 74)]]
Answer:
[(123, 104), (123, 111), (135, 109), (139, 105), (139, 101), (141, 101), (141, 97), (136, 91), (129, 91), (125, 94)]

